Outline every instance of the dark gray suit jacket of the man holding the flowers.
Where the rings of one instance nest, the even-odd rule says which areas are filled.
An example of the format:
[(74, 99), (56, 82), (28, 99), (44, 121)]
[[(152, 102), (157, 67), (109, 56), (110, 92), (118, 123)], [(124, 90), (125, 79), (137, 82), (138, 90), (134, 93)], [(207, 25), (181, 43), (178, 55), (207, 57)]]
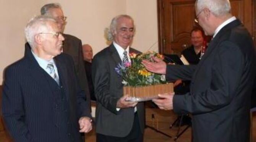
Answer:
[[(138, 52), (130, 48), (130, 52)], [(107, 136), (125, 137), (133, 126), (134, 108), (116, 110), (118, 99), (123, 96), (122, 77), (115, 68), (122, 60), (111, 44), (97, 53), (92, 61), (92, 81), (94, 82), (96, 106), (96, 133)], [(144, 132), (144, 103), (138, 103), (138, 116), (142, 133)]]

